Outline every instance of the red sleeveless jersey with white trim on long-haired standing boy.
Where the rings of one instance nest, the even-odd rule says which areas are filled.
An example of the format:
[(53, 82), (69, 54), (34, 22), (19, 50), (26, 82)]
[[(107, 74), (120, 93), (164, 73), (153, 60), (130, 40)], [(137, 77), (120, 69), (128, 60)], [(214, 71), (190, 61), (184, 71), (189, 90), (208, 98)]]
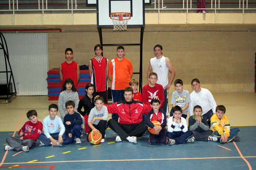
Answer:
[(96, 92), (107, 91), (108, 81), (106, 76), (107, 59), (102, 57), (100, 60), (95, 57), (91, 59), (93, 74), (91, 77), (91, 83), (94, 85)]

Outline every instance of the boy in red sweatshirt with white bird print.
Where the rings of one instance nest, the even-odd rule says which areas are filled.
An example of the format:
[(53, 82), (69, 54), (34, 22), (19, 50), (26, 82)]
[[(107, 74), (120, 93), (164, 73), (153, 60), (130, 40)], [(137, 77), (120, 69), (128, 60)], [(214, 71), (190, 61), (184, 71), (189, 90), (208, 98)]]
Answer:
[(151, 105), (151, 100), (154, 97), (158, 97), (160, 99), (160, 108), (163, 108), (164, 99), (164, 92), (163, 86), (157, 84), (157, 74), (152, 72), (148, 76), (149, 84), (144, 85), (142, 88), (142, 101), (147, 105)]

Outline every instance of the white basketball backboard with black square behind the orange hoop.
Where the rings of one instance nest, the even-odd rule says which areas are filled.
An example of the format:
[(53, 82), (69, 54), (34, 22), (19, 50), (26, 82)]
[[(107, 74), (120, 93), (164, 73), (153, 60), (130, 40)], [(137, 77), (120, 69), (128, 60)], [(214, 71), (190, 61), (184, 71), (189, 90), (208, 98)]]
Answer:
[(110, 13), (128, 12), (127, 27), (145, 26), (145, 0), (97, 0), (97, 27), (113, 27)]

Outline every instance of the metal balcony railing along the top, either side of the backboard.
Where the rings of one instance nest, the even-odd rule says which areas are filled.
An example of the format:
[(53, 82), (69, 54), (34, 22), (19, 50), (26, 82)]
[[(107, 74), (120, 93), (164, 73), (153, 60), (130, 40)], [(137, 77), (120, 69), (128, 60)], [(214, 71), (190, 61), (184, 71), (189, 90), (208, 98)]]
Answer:
[[(22, 1), (22, 0), (20, 0)], [(13, 22), (15, 25), (15, 13), (19, 12), (19, 11), (27, 11), (27, 12), (32, 12), (32, 11), (42, 11), (42, 17), (43, 17), (43, 24), (44, 24), (44, 12), (47, 11), (68, 11), (71, 12), (72, 14), (72, 24), (73, 24), (73, 14), (74, 12), (79, 13), (79, 11), (95, 11), (96, 12), (96, 7), (95, 6), (85, 6), (85, 3), (78, 3), (77, 1), (79, 0), (67, 0), (67, 3), (48, 3), (47, 0), (38, 0), (38, 3), (19, 3), (18, 0), (9, 0), (9, 4), (1, 4), (1, 6), (3, 5), (9, 5), (9, 9), (1, 9), (3, 7), (0, 7), (0, 12), (2, 14), (4, 14), (5, 12), (10, 12), (12, 11), (13, 14)], [(195, 1), (195, 0), (194, 0)], [(192, 2), (192, 0), (182, 0), (181, 3), (173, 3), (171, 2), (171, 0), (152, 0), (151, 5), (146, 5), (145, 6), (145, 11), (157, 11), (158, 12), (158, 23), (160, 23), (160, 11), (168, 11), (168, 10), (172, 10), (172, 11), (177, 11), (177, 10), (181, 10), (181, 11), (186, 11), (186, 18), (187, 18), (187, 22), (188, 23), (188, 14), (189, 12), (192, 10), (197, 10), (197, 9), (206, 9), (207, 11), (209, 10), (210, 12), (214, 11), (215, 14), (215, 23), (216, 23), (216, 13), (217, 11), (221, 11), (221, 10), (230, 10), (230, 11), (238, 11), (239, 13), (242, 13), (243, 15), (243, 19), (242, 19), (242, 23), (244, 23), (244, 12), (246, 10), (250, 10), (250, 12), (256, 13), (256, 0), (234, 0), (237, 2), (230, 2), (230, 3), (222, 3), (220, 0), (210, 0), (210, 3), (207, 0), (207, 7), (210, 6), (209, 8), (192, 8), (196, 4), (196, 2)], [(60, 2), (60, 1), (58, 1)], [(63, 2), (65, 2), (65, 0), (63, 0)], [(80, 1), (79, 1), (80, 2)], [(221, 8), (221, 4), (228, 4), (229, 6), (232, 6), (232, 8)], [(22, 7), (24, 6), (28, 6), (31, 5), (29, 7), (29, 9), (22, 9)], [(53, 9), (53, 8), (49, 8), (49, 5), (51, 7), (54, 7), (56, 5), (60, 5), (58, 6), (58, 9)], [(250, 5), (250, 6), (249, 6)], [(67, 6), (67, 7), (65, 7)], [(15, 8), (16, 7), (16, 8)], [(34, 7), (34, 9), (32, 8)], [(178, 8), (174, 8), (174, 7), (178, 7)], [(207, 12), (208, 13), (208, 12)], [(212, 12), (213, 13), (213, 12)]]

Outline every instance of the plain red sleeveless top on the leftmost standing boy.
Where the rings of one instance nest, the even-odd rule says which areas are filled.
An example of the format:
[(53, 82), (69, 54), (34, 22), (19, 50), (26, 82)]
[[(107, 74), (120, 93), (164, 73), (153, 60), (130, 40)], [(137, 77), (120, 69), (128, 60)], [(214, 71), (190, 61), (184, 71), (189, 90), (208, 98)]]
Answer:
[(77, 62), (72, 61), (70, 64), (67, 62), (63, 62), (61, 64), (61, 71), (62, 71), (62, 75), (63, 75), (63, 79), (61, 82), (61, 86), (63, 85), (63, 83), (65, 82), (65, 80), (67, 78), (70, 78), (73, 80), (75, 86), (76, 86), (76, 90), (77, 89)]

